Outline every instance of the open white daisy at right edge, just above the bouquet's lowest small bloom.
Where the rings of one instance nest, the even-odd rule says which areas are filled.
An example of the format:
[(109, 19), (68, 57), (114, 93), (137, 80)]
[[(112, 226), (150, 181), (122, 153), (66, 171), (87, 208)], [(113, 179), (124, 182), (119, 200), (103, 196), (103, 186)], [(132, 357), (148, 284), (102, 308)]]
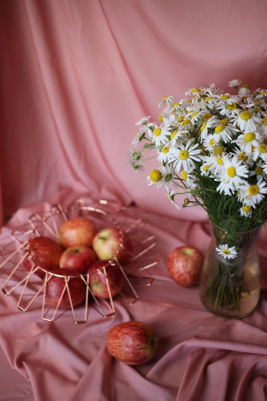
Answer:
[(262, 177), (260, 177), (256, 185), (250, 185), (248, 182), (244, 181), (243, 184), (240, 185), (238, 192), (240, 199), (243, 200), (245, 205), (255, 208), (256, 205), (264, 199), (263, 194), (267, 193), (267, 187)]

